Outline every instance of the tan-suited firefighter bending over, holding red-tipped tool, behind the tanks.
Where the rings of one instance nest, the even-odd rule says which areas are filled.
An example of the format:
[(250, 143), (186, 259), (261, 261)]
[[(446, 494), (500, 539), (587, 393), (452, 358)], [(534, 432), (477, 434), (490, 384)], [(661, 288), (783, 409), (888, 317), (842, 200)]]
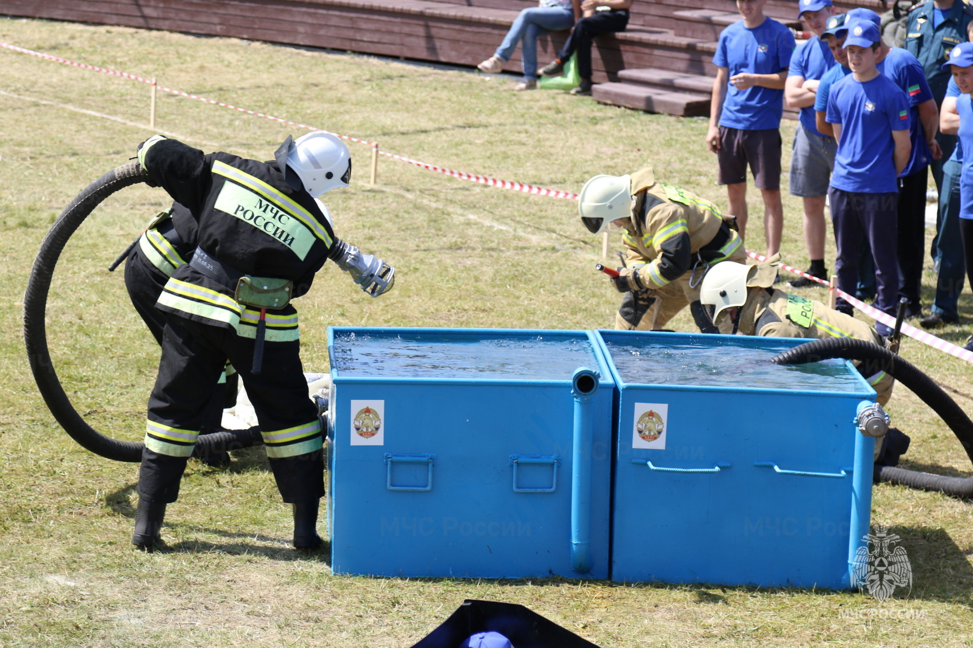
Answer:
[(663, 328), (687, 305), (700, 330), (708, 329), (700, 306), (703, 272), (720, 261), (746, 259), (733, 217), (724, 219), (709, 200), (656, 182), (652, 167), (631, 176), (596, 175), (581, 190), (578, 212), (592, 234), (609, 223), (625, 229), (627, 268), (611, 279), (625, 293), (616, 329)]

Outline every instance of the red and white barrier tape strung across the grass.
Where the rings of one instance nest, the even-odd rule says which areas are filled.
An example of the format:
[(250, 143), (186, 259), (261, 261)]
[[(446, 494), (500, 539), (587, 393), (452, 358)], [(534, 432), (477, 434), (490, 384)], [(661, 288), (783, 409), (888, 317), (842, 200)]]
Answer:
[[(6, 48), (7, 50), (12, 50), (12, 51), (18, 52), (20, 54), (30, 54), (31, 56), (37, 56), (39, 58), (44, 58), (45, 60), (51, 60), (51, 61), (54, 61), (55, 63), (63, 63), (65, 65), (71, 65), (73, 67), (80, 67), (80, 68), (83, 68), (83, 69), (86, 69), (86, 70), (93, 70), (95, 72), (102, 72), (104, 74), (110, 74), (112, 76), (122, 77), (124, 79), (131, 79), (132, 81), (138, 81), (138, 82), (141, 82), (141, 83), (144, 83), (144, 84), (149, 84), (149, 85), (152, 85), (153, 84), (153, 81), (151, 79), (146, 79), (144, 77), (139, 77), (139, 76), (136, 76), (134, 74), (128, 74), (127, 72), (118, 72), (116, 70), (109, 70), (107, 68), (98, 67), (96, 65), (89, 65), (87, 63), (78, 63), (78, 62), (73, 61), (73, 60), (68, 60), (67, 58), (61, 58), (60, 56), (54, 56), (52, 54), (43, 54), (43, 53), (40, 53), (40, 52), (34, 52), (33, 50), (27, 50), (27, 49), (24, 49), (24, 48), (20, 48), (20, 47), (18, 47), (16, 45), (10, 45), (9, 43), (0, 42), (0, 48)], [(241, 113), (246, 113), (247, 115), (255, 115), (257, 117), (263, 117), (264, 119), (268, 119), (268, 120), (271, 120), (273, 122), (278, 122), (280, 124), (286, 124), (288, 126), (297, 126), (299, 128), (305, 128), (306, 130), (322, 130), (322, 128), (316, 128), (314, 126), (306, 126), (305, 124), (300, 124), (298, 122), (292, 122), (290, 120), (281, 119), (279, 117), (273, 117), (272, 115), (267, 115), (265, 113), (260, 113), (260, 112), (254, 111), (254, 110), (247, 110), (246, 108), (240, 108), (238, 106), (234, 106), (234, 105), (231, 105), (229, 103), (223, 103), (222, 101), (216, 101), (214, 99), (207, 99), (205, 97), (199, 96), (198, 94), (191, 94), (189, 92), (183, 92), (182, 90), (173, 90), (171, 88), (165, 88), (164, 86), (159, 86), (159, 85), (157, 85), (156, 88), (158, 88), (159, 90), (162, 90), (164, 92), (169, 92), (171, 94), (177, 94), (179, 96), (185, 96), (185, 97), (188, 97), (190, 99), (197, 99), (198, 101), (204, 101), (206, 103), (211, 103), (211, 104), (216, 105), (216, 106), (222, 106), (224, 108), (230, 108), (231, 110), (236, 110), (236, 111), (239, 111)], [(331, 131), (328, 131), (328, 132), (331, 132)], [(372, 146), (374, 148), (375, 147), (378, 147), (378, 144), (376, 142), (370, 142), (368, 140), (359, 139), (357, 137), (351, 137), (350, 135), (342, 135), (341, 133), (334, 133), (334, 134), (338, 135), (342, 139), (346, 139), (346, 140), (351, 141), (351, 142), (358, 142), (359, 144), (367, 144), (367, 145)], [(406, 158), (406, 157), (403, 157), (403, 156), (398, 156), (398, 155), (395, 155), (394, 153), (388, 153), (386, 151), (378, 151), (378, 153), (380, 155), (383, 155), (383, 156), (386, 156), (388, 158), (391, 158), (392, 160), (398, 160), (400, 162), (407, 162), (409, 164), (414, 164), (415, 166), (418, 166), (419, 168), (424, 168), (424, 169), (429, 170), (429, 171), (435, 171), (437, 173), (442, 173), (444, 175), (448, 175), (448, 176), (450, 176), (452, 178), (458, 178), (460, 180), (468, 180), (470, 182), (476, 182), (476, 183), (479, 183), (481, 185), (486, 185), (488, 187), (497, 187), (499, 189), (508, 189), (508, 190), (511, 190), (511, 191), (523, 192), (524, 194), (532, 194), (534, 196), (547, 196), (547, 197), (550, 197), (550, 198), (566, 198), (566, 199), (569, 199), (569, 200), (577, 200), (578, 198), (581, 198), (580, 195), (575, 194), (573, 192), (565, 192), (565, 191), (560, 191), (560, 190), (557, 190), (557, 189), (546, 189), (544, 187), (537, 187), (535, 185), (527, 185), (527, 184), (523, 184), (521, 182), (511, 182), (510, 180), (497, 180), (496, 178), (491, 178), (491, 177), (486, 176), (486, 175), (477, 175), (475, 173), (466, 173), (465, 171), (455, 171), (455, 170), (450, 169), (450, 168), (445, 168), (443, 166), (438, 166), (436, 164), (430, 164), (429, 162), (419, 162), (417, 160), (413, 160), (412, 158)], [(762, 256), (760, 254), (757, 254), (756, 252), (747, 252), (747, 254), (750, 255), (752, 258), (757, 259), (758, 261), (766, 261), (767, 260), (766, 257), (764, 257), (764, 256)], [(808, 274), (807, 272), (803, 272), (803, 271), (798, 270), (796, 268), (793, 268), (791, 266), (787, 266), (785, 264), (781, 264), (780, 265), (780, 268), (782, 270), (787, 270), (788, 272), (793, 272), (794, 274), (799, 274), (799, 275), (801, 275), (803, 277), (806, 277), (808, 279), (811, 279), (811, 281), (815, 281), (815, 282), (817, 282), (819, 284), (822, 284), (824, 286), (828, 286), (829, 289), (831, 289), (831, 290), (836, 290), (838, 292), (838, 294), (848, 304), (850, 304), (851, 306), (854, 306), (855, 308), (858, 308), (859, 310), (861, 310), (862, 312), (864, 312), (866, 315), (868, 315), (868, 316), (870, 316), (870, 317), (872, 317), (872, 318), (874, 318), (874, 319), (882, 322), (885, 326), (887, 326), (889, 328), (893, 328), (895, 326), (895, 318), (894, 317), (892, 317), (891, 315), (888, 315), (887, 313), (882, 312), (878, 308), (875, 308), (873, 306), (869, 306), (869, 305), (867, 305), (867, 304), (865, 304), (865, 303), (863, 303), (863, 302), (861, 302), (859, 300), (856, 300), (855, 298), (853, 298), (850, 295), (848, 295), (846, 292), (844, 292), (842, 290), (838, 290), (837, 287), (832, 288), (831, 287), (831, 284), (829, 282), (827, 282), (827, 281), (825, 281), (823, 279), (820, 279), (820, 278), (818, 278), (816, 276), (813, 276), (811, 274)], [(965, 360), (967, 362), (973, 362), (973, 352), (967, 351), (966, 349), (963, 349), (963, 348), (960, 348), (959, 346), (956, 346), (953, 343), (946, 342), (945, 340), (941, 340), (940, 338), (937, 338), (936, 336), (930, 335), (930, 334), (928, 334), (928, 333), (926, 333), (924, 331), (920, 331), (919, 329), (917, 329), (914, 326), (910, 326), (909, 324), (903, 323), (902, 324), (902, 333), (904, 333), (905, 335), (909, 336), (910, 338), (913, 338), (915, 340), (918, 340), (919, 342), (928, 344), (929, 346), (932, 346), (933, 348), (937, 348), (937, 349), (939, 349), (941, 351), (945, 351), (946, 353), (949, 353), (951, 355), (954, 355), (957, 358), (960, 358), (960, 359)]]

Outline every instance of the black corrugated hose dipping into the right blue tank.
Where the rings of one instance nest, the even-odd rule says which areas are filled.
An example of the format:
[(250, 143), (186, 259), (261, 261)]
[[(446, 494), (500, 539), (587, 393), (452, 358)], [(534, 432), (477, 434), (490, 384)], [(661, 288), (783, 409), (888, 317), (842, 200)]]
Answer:
[[(966, 455), (973, 461), (973, 421), (932, 378), (919, 371), (915, 365), (903, 360), (888, 349), (873, 342), (850, 338), (815, 340), (788, 349), (774, 357), (778, 365), (800, 365), (828, 358), (859, 360), (862, 373), (870, 376), (884, 371), (906, 387), (922, 402), (939, 414), (962, 444)], [(891, 484), (911, 486), (920, 490), (945, 492), (963, 499), (973, 498), (973, 478), (946, 477), (893, 466), (882, 466), (879, 479)]]

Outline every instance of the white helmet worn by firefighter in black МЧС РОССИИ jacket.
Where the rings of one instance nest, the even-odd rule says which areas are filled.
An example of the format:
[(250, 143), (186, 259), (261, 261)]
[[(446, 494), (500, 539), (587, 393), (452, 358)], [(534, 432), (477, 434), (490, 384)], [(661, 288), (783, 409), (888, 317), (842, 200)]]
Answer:
[[(334, 133), (315, 130), (292, 140), (290, 136), (277, 149), (277, 166), (294, 189), (317, 198), (332, 189), (347, 187), (351, 181), (351, 153)], [(292, 173), (288, 173), (290, 167)], [(300, 179), (300, 183), (297, 180)], [(300, 184), (301, 186), (295, 187)]]

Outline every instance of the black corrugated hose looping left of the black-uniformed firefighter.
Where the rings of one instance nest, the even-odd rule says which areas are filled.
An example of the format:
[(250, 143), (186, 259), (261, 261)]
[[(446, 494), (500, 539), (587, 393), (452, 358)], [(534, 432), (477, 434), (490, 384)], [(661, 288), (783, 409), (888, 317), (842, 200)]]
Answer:
[[(128, 462), (142, 460), (143, 444), (119, 441), (101, 434), (74, 409), (54, 372), (44, 317), (54, 267), (71, 234), (74, 234), (102, 200), (140, 182), (149, 182), (148, 173), (138, 162), (128, 162), (105, 173), (78, 194), (57, 217), (51, 231), (44, 237), (23, 296), (23, 340), (27, 346), (30, 371), (51, 414), (54, 414), (64, 431), (82, 447), (107, 459)], [(260, 431), (250, 428), (200, 436), (197, 447), (205, 454), (216, 454), (226, 450), (249, 448), (258, 443), (262, 443)]]

